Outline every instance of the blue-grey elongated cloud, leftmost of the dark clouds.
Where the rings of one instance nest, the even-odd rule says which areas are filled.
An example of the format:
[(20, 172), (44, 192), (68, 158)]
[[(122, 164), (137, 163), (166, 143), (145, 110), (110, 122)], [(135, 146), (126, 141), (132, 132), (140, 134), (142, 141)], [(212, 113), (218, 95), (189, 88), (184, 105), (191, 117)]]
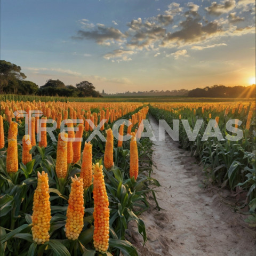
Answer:
[(78, 30), (78, 36), (73, 37), (73, 39), (92, 39), (101, 45), (114, 44), (115, 41), (122, 42), (125, 35), (116, 28), (105, 27), (103, 24), (98, 24), (97, 29), (94, 30)]

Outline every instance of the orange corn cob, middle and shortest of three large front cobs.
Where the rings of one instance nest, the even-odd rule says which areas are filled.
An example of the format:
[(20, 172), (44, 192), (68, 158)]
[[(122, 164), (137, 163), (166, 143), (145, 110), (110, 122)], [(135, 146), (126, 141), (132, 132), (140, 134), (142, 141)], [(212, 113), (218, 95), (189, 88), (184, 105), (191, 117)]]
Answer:
[(75, 175), (71, 180), (65, 232), (68, 239), (76, 240), (84, 227), (84, 188), (82, 178)]

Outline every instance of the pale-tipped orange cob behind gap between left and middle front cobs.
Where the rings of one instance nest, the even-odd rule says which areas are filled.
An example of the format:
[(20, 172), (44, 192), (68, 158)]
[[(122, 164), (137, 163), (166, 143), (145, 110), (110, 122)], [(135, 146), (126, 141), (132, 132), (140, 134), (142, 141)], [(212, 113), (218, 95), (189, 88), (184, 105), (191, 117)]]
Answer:
[[(64, 140), (62, 140), (62, 138)], [(67, 154), (68, 154), (68, 146), (67, 146), (67, 138), (68, 134), (65, 132), (59, 133), (58, 137), (58, 146), (57, 146), (57, 159), (56, 159), (56, 174), (57, 177), (65, 178), (67, 175), (68, 170), (68, 161), (67, 161)], [(66, 141), (65, 141), (66, 140)]]

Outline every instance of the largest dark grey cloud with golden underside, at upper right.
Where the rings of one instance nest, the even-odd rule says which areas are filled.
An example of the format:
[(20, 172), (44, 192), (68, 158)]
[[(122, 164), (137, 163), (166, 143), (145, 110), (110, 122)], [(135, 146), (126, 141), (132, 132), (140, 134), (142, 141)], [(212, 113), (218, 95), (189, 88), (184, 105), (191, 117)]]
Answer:
[(213, 21), (207, 23), (205, 26), (202, 25), (200, 19), (193, 19), (188, 17), (185, 21), (180, 22), (182, 27), (180, 30), (174, 33), (167, 33), (161, 46), (168, 47), (169, 44), (178, 43), (191, 44), (199, 41), (204, 41), (206, 38), (218, 34), (221, 31), (218, 23)]

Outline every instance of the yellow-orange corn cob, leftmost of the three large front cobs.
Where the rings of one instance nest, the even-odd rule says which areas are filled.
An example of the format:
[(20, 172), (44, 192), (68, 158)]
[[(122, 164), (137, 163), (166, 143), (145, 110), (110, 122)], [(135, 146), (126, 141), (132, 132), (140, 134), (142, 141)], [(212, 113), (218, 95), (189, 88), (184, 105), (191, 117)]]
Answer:
[(32, 235), (33, 240), (37, 244), (44, 244), (49, 241), (50, 235), (50, 194), (49, 194), (49, 178), (44, 171), (42, 174), (37, 172), (37, 187), (34, 194), (33, 214), (32, 214)]

